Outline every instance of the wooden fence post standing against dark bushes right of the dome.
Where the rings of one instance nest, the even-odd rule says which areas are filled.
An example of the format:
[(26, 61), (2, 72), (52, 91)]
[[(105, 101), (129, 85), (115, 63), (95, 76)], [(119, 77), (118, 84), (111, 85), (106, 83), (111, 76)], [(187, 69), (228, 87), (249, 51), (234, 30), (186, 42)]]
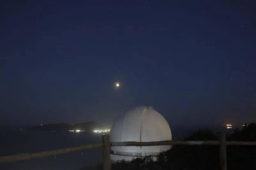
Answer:
[(220, 169), (227, 170), (227, 142), (225, 133), (220, 133)]

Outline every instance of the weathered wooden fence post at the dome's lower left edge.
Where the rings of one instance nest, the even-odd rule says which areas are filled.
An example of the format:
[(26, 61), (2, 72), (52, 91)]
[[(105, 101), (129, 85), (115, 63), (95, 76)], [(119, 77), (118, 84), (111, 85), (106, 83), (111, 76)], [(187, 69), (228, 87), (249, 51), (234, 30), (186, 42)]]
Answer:
[(103, 170), (111, 169), (110, 142), (108, 135), (102, 135)]

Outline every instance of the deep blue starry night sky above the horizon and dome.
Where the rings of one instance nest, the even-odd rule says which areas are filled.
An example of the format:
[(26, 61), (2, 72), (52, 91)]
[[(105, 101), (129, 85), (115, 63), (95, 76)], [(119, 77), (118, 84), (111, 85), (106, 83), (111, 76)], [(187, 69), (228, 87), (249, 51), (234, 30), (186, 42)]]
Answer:
[(253, 122), (255, 8), (253, 0), (2, 2), (0, 124), (111, 125), (140, 105), (171, 127)]

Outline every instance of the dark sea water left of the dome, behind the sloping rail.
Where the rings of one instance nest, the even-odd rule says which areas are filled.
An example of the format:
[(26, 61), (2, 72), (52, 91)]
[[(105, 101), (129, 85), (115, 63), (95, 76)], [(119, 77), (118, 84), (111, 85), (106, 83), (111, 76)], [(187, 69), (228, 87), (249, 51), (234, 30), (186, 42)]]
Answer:
[[(12, 130), (0, 132), (0, 156), (20, 153), (52, 151), (76, 147), (83, 144), (101, 143), (101, 135), (91, 132), (57, 132)], [(79, 170), (84, 166), (95, 166), (102, 162), (101, 148), (60, 154), (46, 158), (36, 158), (0, 164), (1, 170)]]

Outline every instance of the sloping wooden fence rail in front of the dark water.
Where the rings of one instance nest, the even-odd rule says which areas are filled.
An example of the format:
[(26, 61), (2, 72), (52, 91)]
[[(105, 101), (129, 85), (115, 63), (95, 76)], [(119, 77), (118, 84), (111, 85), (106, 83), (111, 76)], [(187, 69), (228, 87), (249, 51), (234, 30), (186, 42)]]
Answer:
[(37, 153), (22, 153), (22, 154), (12, 155), (12, 156), (0, 156), (0, 163), (15, 162), (15, 161), (19, 161), (19, 160), (28, 160), (28, 159), (34, 159), (34, 158), (55, 156), (55, 155), (63, 154), (63, 153), (77, 152), (77, 151), (83, 151), (83, 150), (88, 150), (88, 149), (93, 149), (93, 148), (99, 148), (101, 146), (102, 146), (102, 143), (88, 144), (88, 145), (81, 145), (81, 146), (77, 146), (77, 147), (58, 149), (58, 150), (53, 150), (53, 151), (44, 151), (44, 152), (37, 152)]

